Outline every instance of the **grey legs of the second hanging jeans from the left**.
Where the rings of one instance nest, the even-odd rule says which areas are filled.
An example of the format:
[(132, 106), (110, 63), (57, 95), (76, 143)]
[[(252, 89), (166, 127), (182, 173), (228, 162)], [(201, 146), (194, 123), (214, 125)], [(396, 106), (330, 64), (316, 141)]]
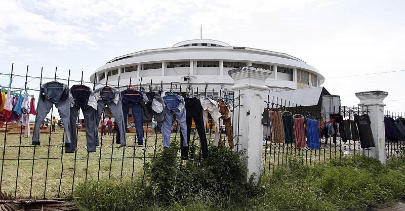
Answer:
[[(70, 140), (71, 144), (66, 146), (65, 152), (74, 153), (77, 147), (77, 117), (79, 115), (79, 109), (76, 106), (70, 107)], [(87, 151), (96, 152), (96, 146), (99, 146), (98, 141), (98, 121), (97, 121), (97, 111), (93, 107), (89, 107), (85, 110), (82, 109), (83, 115), (85, 117), (86, 126), (86, 142)]]

